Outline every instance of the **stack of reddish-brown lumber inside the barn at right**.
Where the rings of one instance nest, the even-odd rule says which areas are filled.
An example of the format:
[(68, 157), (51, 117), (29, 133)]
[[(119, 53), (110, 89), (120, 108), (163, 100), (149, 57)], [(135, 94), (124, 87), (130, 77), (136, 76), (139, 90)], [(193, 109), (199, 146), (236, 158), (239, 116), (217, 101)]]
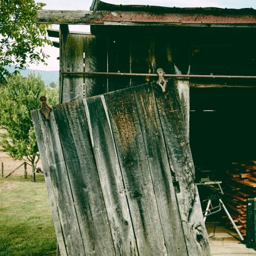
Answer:
[[(243, 236), (246, 236), (247, 199), (256, 197), (256, 161), (231, 163), (224, 187), (225, 205)], [(226, 216), (223, 216), (226, 218)], [(231, 222), (228, 222), (231, 228)]]

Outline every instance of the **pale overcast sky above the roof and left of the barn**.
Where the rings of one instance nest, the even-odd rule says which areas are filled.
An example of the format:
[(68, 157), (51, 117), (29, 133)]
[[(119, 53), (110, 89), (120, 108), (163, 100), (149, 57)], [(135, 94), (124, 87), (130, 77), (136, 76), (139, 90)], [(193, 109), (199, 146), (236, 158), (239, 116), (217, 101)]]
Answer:
[[(92, 0), (41, 0), (36, 2), (45, 3), (46, 6), (44, 6), (44, 9), (48, 10), (89, 10)], [(252, 7), (256, 9), (255, 0), (106, 0), (105, 2), (112, 4), (148, 4), (170, 7), (227, 7), (237, 9)], [(69, 26), (69, 28), (72, 31), (89, 31), (89, 26)], [(52, 46), (46, 46), (44, 51), (50, 55), (50, 58), (47, 59), (48, 65), (30, 65), (30, 68), (59, 70), (59, 61), (57, 60), (57, 57), (59, 57), (59, 49)]]

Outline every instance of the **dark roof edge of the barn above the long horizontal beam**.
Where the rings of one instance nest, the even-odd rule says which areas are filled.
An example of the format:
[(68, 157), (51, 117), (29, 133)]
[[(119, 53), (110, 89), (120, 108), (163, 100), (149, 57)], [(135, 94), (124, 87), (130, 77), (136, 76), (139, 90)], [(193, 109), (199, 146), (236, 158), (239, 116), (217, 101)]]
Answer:
[(218, 7), (164, 7), (151, 5), (116, 5), (101, 2), (100, 0), (93, 0), (91, 8), (92, 11), (143, 11), (155, 13), (205, 13), (205, 14), (255, 14), (256, 10), (253, 8), (243, 9), (228, 9)]

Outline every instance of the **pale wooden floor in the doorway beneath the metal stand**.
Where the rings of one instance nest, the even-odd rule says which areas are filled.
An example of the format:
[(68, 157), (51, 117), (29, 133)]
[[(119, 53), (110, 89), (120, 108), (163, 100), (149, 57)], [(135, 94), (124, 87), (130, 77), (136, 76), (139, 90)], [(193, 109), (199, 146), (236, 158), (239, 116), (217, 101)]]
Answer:
[(217, 223), (215, 235), (213, 223), (206, 223), (206, 228), (209, 234), (211, 253), (214, 256), (249, 256), (256, 255), (256, 251), (246, 248), (239, 240), (237, 233)]

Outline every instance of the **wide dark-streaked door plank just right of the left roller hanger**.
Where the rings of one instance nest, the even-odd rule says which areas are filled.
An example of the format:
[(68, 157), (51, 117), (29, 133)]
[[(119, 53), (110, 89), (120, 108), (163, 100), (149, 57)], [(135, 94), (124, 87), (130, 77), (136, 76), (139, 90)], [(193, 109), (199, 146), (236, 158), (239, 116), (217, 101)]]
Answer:
[(115, 255), (82, 100), (53, 107), (86, 255)]

